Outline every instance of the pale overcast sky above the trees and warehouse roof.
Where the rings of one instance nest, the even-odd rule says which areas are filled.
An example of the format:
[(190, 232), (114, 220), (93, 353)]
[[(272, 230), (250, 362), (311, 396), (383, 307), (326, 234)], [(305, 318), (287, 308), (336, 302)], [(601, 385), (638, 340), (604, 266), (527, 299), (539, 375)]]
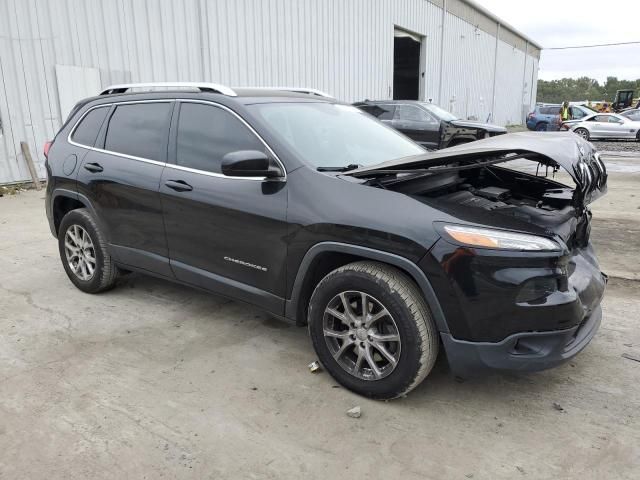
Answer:
[[(640, 0), (475, 0), (542, 47), (640, 42)], [(543, 50), (538, 78), (640, 78), (640, 44)]]

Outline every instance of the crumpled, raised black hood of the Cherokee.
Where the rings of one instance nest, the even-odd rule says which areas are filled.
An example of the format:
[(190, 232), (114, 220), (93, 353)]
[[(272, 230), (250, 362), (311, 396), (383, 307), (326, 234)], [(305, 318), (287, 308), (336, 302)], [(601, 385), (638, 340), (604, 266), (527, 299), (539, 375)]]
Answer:
[(606, 193), (607, 171), (593, 146), (571, 132), (520, 132), (486, 138), (455, 147), (390, 160), (351, 170), (346, 175), (367, 177), (385, 170), (414, 170), (432, 167), (467, 166), (493, 160), (509, 161), (514, 156), (562, 167), (576, 183), (574, 204), (584, 206)]

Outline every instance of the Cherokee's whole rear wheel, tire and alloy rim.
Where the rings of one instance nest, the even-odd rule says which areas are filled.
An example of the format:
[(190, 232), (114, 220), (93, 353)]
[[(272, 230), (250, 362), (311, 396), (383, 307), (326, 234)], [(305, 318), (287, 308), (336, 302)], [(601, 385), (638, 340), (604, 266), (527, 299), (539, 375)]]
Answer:
[(67, 213), (58, 230), (60, 260), (69, 280), (83, 292), (98, 293), (113, 287), (118, 267), (107, 242), (86, 208)]

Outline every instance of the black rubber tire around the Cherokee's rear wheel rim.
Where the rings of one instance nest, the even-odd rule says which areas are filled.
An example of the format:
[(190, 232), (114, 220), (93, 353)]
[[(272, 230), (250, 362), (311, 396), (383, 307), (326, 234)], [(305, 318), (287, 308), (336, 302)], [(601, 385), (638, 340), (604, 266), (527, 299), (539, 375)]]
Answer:
[[(86, 280), (80, 278), (78, 274), (74, 272), (70, 261), (67, 259), (65, 239), (67, 238), (67, 232), (73, 229), (74, 226), (81, 227), (86, 234), (89, 235), (92, 243), (90, 250), (93, 252), (92, 258), (95, 260), (95, 268), (91, 278)], [(58, 230), (58, 251), (60, 252), (60, 260), (62, 260), (62, 265), (65, 272), (67, 272), (69, 280), (83, 292), (99, 293), (115, 285), (119, 273), (118, 267), (113, 262), (109, 252), (107, 252), (107, 241), (104, 235), (86, 208), (71, 210), (64, 216), (62, 222), (60, 222), (60, 228)]]

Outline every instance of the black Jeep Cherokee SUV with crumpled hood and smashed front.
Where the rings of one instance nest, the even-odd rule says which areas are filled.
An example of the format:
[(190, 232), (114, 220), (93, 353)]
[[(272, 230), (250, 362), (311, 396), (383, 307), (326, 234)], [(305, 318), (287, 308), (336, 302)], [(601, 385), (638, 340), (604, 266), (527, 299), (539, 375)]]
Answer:
[[(587, 205), (607, 176), (589, 143), (429, 153), (320, 92), (188, 86), (110, 87), (50, 145), (46, 212), (80, 290), (138, 271), (257, 305), (308, 324), (331, 375), (374, 398), (440, 348), (455, 374), (533, 371), (594, 336)], [(561, 167), (575, 187), (536, 175)]]

